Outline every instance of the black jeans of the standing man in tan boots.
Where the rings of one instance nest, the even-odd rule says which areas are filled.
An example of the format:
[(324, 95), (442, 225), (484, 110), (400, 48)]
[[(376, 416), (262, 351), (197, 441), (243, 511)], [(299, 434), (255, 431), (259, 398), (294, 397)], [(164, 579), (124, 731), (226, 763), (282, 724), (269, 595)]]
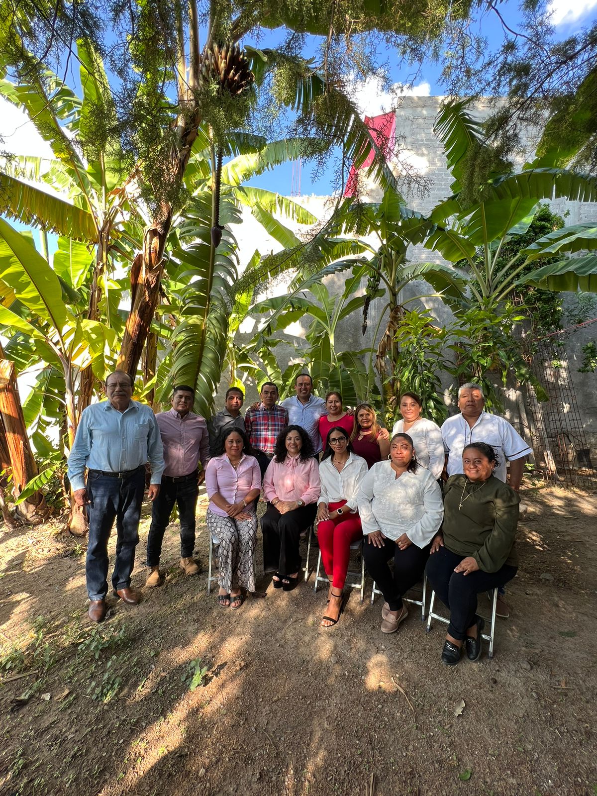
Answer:
[(195, 547), (195, 509), (197, 509), (197, 474), (186, 481), (170, 481), (162, 476), (162, 486), (151, 509), (151, 525), (147, 537), (147, 566), (157, 567), (162, 554), (162, 541), (174, 503), (178, 503), (181, 522), (181, 558), (193, 555)]

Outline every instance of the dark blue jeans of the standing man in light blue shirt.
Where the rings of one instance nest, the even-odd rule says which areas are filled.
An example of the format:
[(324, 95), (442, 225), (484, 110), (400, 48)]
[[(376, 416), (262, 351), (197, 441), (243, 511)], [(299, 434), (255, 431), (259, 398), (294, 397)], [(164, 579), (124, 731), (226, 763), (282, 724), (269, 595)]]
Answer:
[(112, 586), (115, 590), (131, 586), (144, 491), (144, 467), (123, 479), (88, 474), (87, 494), (91, 502), (87, 507), (89, 543), (85, 574), (89, 599), (103, 599), (107, 595), (107, 540), (114, 520), (118, 537)]

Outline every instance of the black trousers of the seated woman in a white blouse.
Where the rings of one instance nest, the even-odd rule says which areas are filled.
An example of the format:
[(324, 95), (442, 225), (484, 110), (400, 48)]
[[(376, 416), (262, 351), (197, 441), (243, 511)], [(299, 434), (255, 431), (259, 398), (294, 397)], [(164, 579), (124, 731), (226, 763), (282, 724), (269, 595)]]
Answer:
[[(409, 544), (408, 548), (400, 550), (396, 542), (392, 539), (384, 539), (384, 546), (378, 548), (370, 543), (365, 536), (363, 539), (363, 558), (367, 572), (373, 578), (377, 588), (384, 595), (384, 600), (388, 603), (390, 611), (400, 611), (402, 607), (402, 595), (408, 589), (412, 589), (415, 583), (419, 583), (429, 548), (427, 544), (422, 550), (416, 544)], [(388, 561), (394, 558), (394, 574), (388, 567)]]

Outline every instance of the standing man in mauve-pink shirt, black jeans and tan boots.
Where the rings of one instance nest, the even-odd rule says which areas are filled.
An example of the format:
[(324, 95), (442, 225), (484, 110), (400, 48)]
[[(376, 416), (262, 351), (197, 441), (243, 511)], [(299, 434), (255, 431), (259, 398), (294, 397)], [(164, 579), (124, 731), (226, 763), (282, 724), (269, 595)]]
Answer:
[[(147, 537), (146, 586), (161, 586), (162, 574), (159, 570), (162, 540), (174, 503), (178, 504), (178, 517), (181, 524), (180, 568), (186, 575), (199, 572), (193, 560), (195, 547), (195, 510), (199, 485), (205, 480), (205, 467), (209, 462), (209, 435), (207, 423), (201, 415), (191, 412), (195, 391), (186, 384), (174, 388), (169, 412), (155, 416), (158, 421), (164, 462), (162, 489), (154, 501), (151, 525)], [(198, 463), (201, 461), (201, 471)]]

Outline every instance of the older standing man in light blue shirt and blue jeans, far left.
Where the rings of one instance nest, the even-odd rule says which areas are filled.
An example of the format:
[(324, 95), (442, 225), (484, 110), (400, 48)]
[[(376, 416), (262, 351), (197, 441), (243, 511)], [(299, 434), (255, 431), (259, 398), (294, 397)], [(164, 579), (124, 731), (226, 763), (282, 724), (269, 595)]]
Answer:
[(122, 371), (111, 373), (105, 390), (108, 400), (88, 406), (81, 414), (68, 457), (76, 505), (88, 510), (85, 575), (92, 622), (101, 622), (106, 615), (107, 541), (115, 520), (118, 540), (112, 586), (123, 603), (139, 603), (139, 595), (131, 589), (131, 572), (139, 544), (146, 462), (151, 467), (150, 501), (158, 497), (164, 470), (158, 423), (150, 407), (131, 400), (131, 377)]

